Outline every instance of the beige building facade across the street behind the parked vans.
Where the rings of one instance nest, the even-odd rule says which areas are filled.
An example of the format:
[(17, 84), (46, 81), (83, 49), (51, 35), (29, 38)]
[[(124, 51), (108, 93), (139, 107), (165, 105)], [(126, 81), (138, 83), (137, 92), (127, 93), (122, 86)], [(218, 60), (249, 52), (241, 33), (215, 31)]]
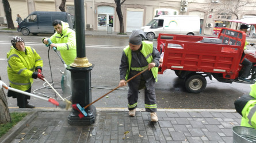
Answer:
[[(26, 18), (33, 11), (60, 11), (61, 0), (8, 0), (12, 9), (12, 19), (17, 27), (16, 15)], [(228, 19), (236, 19), (234, 14), (226, 11), (225, 1), (231, 0), (127, 0), (121, 5), (124, 22), (124, 32), (147, 25), (156, 15), (198, 15), (200, 16), (200, 33), (217, 35), (216, 29), (232, 27)], [(248, 0), (247, 0), (248, 1)], [(233, 4), (235, 1), (231, 1)], [(256, 18), (256, 0), (251, 0), (245, 6), (239, 7), (240, 18)], [(242, 5), (243, 3), (239, 3)], [(222, 7), (222, 8), (220, 8)], [(74, 1), (66, 1), (66, 12), (74, 16)], [(222, 10), (221, 10), (222, 9)], [(5, 17), (2, 2), (0, 17)], [(188, 23), (189, 26), (189, 23)], [(119, 18), (114, 0), (85, 0), (86, 30), (119, 31)], [(251, 30), (254, 30), (253, 27)], [(253, 31), (252, 31), (253, 32)], [(254, 30), (255, 32), (255, 30)]]

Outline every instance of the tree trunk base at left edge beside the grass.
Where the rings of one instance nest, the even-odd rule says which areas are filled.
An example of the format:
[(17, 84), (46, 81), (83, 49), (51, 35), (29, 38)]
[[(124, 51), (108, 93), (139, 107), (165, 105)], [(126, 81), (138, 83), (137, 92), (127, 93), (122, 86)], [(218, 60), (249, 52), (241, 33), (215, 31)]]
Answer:
[[(1, 80), (1, 76), (0, 76)], [(7, 104), (7, 99), (3, 89), (0, 89), (0, 124), (5, 124), (6, 122), (10, 122), (10, 112)]]

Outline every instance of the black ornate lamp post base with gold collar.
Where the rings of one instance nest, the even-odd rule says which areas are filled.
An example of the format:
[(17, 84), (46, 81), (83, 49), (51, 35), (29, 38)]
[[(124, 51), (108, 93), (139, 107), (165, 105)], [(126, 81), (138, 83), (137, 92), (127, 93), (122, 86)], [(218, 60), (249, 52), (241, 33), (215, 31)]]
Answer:
[[(72, 104), (79, 104), (82, 107), (91, 102), (91, 70), (93, 64), (89, 63), (87, 58), (75, 58), (74, 63), (67, 66), (67, 70), (71, 72), (71, 87), (72, 87)], [(70, 125), (85, 125), (94, 124), (96, 116), (96, 108), (90, 106), (85, 109), (87, 117), (79, 118), (78, 110), (72, 108), (68, 116), (68, 124)]]

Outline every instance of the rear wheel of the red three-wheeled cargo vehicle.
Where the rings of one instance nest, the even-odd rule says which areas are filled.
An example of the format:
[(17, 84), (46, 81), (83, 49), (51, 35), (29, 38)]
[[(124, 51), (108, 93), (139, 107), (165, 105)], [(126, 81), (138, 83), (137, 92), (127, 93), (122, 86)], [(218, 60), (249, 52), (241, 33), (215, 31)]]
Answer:
[(192, 74), (185, 80), (185, 88), (190, 93), (200, 93), (206, 85), (206, 79), (201, 74)]

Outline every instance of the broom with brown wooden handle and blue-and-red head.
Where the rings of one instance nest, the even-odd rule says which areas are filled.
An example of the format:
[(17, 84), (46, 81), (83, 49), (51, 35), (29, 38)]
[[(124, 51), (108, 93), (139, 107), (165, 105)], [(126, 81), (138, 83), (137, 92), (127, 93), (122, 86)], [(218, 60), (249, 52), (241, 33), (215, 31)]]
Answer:
[[(129, 80), (125, 81), (125, 83), (131, 81), (133, 78), (139, 76), (140, 74), (144, 73), (146, 70), (148, 70), (148, 68), (144, 69), (142, 72), (137, 73), (135, 76), (129, 78)], [(119, 86), (117, 86), (116, 88), (112, 89), (110, 92), (104, 94), (103, 96), (101, 96), (100, 98), (98, 98), (97, 100), (91, 102), (90, 104), (86, 105), (84, 108), (82, 108), (81, 105), (79, 104), (73, 104), (72, 107), (76, 110), (78, 110), (80, 113), (78, 114), (79, 118), (82, 117), (86, 117), (87, 113), (85, 112), (85, 109), (88, 108), (89, 106), (91, 106), (92, 104), (94, 104), (95, 102), (97, 102), (98, 100), (100, 100), (101, 98), (105, 97), (106, 95), (108, 95), (109, 93), (112, 93), (114, 90), (118, 89)]]

